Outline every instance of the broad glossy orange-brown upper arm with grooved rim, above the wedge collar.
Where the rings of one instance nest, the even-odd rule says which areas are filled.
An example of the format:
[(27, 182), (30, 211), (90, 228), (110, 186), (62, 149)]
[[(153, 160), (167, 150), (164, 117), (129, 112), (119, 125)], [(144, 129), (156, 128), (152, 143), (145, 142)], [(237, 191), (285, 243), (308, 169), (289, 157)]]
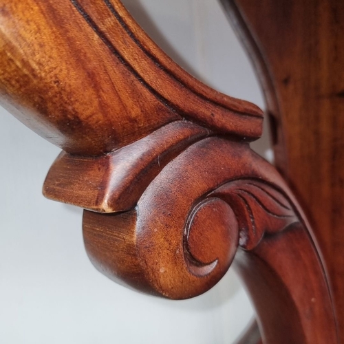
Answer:
[(261, 135), (258, 107), (182, 71), (119, 1), (3, 0), (0, 19), (1, 103), (68, 153), (113, 151), (182, 118)]

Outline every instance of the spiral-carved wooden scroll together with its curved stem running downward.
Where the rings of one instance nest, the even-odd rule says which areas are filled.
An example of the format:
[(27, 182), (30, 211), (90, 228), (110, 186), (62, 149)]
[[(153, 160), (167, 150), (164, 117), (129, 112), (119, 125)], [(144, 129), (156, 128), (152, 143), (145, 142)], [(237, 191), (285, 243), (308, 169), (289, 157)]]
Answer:
[(213, 287), (235, 257), (264, 343), (337, 343), (308, 224), (279, 174), (245, 143), (212, 137), (191, 145), (166, 164), (136, 208), (85, 211), (83, 234), (98, 270), (171, 299)]

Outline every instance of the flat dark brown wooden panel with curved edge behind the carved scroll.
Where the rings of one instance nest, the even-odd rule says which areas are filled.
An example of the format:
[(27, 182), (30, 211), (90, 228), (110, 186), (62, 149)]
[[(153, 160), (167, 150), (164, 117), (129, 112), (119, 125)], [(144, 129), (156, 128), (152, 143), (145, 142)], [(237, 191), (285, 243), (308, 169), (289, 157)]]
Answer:
[(307, 213), (344, 342), (344, 2), (222, 0), (263, 84), (277, 168)]

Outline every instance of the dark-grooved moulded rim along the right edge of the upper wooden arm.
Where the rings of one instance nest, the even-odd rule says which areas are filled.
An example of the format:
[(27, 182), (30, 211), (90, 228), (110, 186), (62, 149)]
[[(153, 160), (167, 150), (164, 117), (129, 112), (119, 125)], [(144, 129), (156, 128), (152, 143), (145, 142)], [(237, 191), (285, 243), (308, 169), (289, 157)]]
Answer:
[[(138, 48), (137, 54), (142, 54), (142, 58), (147, 58), (147, 61), (145, 61), (145, 63), (149, 63), (151, 72), (163, 72), (161, 77), (164, 78), (164, 80), (166, 80), (166, 83), (168, 83), (169, 86), (173, 87), (173, 90), (175, 90), (175, 92), (178, 92), (180, 97), (186, 98), (186, 94), (189, 93), (190, 96), (195, 97), (195, 103), (200, 103), (200, 107), (206, 107), (207, 111), (197, 110), (193, 102), (189, 103), (191, 105), (191, 108), (186, 110), (186, 107), (184, 107), (184, 103), (180, 103), (180, 101), (178, 100), (179, 97), (173, 98), (173, 100), (171, 100), (169, 99), (169, 95), (162, 94), (161, 88), (157, 88), (156, 85), (152, 84), (152, 80), (149, 81), (149, 78), (147, 79), (147, 76), (149, 75), (145, 74), (147, 73), (147, 71), (139, 71), (140, 68), (137, 68), (138, 66), (135, 65), (135, 61), (131, 61), (130, 54), (128, 55), (128, 58), (125, 58), (123, 55), (124, 51), (122, 51), (124, 48), (116, 47), (116, 41), (114, 42), (113, 39), (107, 36), (107, 34), (105, 34), (103, 30), (100, 30), (100, 25), (96, 23), (99, 19), (92, 19), (92, 16), (85, 9), (87, 8), (87, 6), (91, 6), (92, 8), (92, 6), (100, 5), (85, 3), (85, 6), (82, 6), (80, 4), (81, 1), (70, 1), (72, 1), (74, 7), (83, 16), (83, 19), (85, 19), (85, 21), (92, 28), (92, 30), (94, 30), (94, 32), (100, 37), (103, 43), (105, 43), (105, 45), (111, 50), (111, 52), (120, 59), (120, 62), (130, 70), (130, 72), (136, 77), (136, 79), (139, 80), (140, 83), (142, 83), (142, 85), (144, 85), (144, 87), (148, 89), (149, 92), (153, 94), (153, 96), (155, 96), (155, 98), (158, 98), (160, 103), (168, 106), (170, 109), (173, 109), (175, 113), (180, 114), (180, 116), (182, 116), (183, 118), (192, 118), (194, 122), (197, 122), (200, 125), (205, 125), (206, 127), (211, 127), (212, 129), (217, 129), (217, 131), (229, 131), (233, 135), (243, 136), (247, 140), (252, 140), (252, 138), (257, 138), (257, 130), (259, 130), (260, 136), (260, 122), (262, 120), (262, 116), (261, 111), (257, 109), (257, 107), (254, 107), (252, 105), (243, 107), (242, 104), (236, 102), (234, 99), (232, 102), (225, 100), (226, 96), (220, 96), (220, 94), (217, 94), (214, 97), (209, 96), (208, 94), (202, 94), (201, 92), (197, 92), (197, 87), (191, 87), (190, 83), (188, 85), (188, 83), (183, 81), (181, 78), (175, 76), (175, 74), (173, 73), (173, 68), (166, 68), (162, 66), (160, 61), (158, 61), (158, 59), (155, 56), (153, 56), (149, 52), (149, 50), (147, 50), (141, 43), (138, 42), (135, 34), (129, 29), (127, 23), (125, 23), (120, 14), (118, 14), (118, 11), (116, 10), (116, 8), (120, 8), (118, 3), (116, 4), (116, 6), (114, 6), (110, 1), (100, 0), (101, 3), (103, 3), (104, 6), (106, 6), (106, 8), (111, 13), (111, 17), (113, 17), (114, 20), (119, 23), (120, 28), (124, 30), (123, 34), (128, 35), (129, 39), (133, 41), (133, 43), (135, 44), (135, 47), (133, 47), (133, 49)], [(119, 29), (117, 28), (117, 30)], [(135, 66), (132, 65), (132, 63)], [(200, 89), (202, 89), (202, 87), (200, 87)], [(186, 92), (186, 94), (184, 94), (184, 92), (181, 92), (183, 90)], [(178, 101), (175, 103), (174, 99)], [(215, 118), (208, 116), (208, 114), (211, 112), (215, 114)], [(230, 120), (230, 118), (226, 118), (224, 114), (233, 116), (233, 119), (237, 118), (238, 123), (244, 123), (246, 121), (250, 122), (252, 123), (252, 127), (250, 128), (250, 130), (244, 127), (241, 127), (241, 129), (239, 129), (239, 126), (237, 126), (235, 129), (233, 127), (233, 119)], [(253, 124), (253, 122), (255, 124)]]

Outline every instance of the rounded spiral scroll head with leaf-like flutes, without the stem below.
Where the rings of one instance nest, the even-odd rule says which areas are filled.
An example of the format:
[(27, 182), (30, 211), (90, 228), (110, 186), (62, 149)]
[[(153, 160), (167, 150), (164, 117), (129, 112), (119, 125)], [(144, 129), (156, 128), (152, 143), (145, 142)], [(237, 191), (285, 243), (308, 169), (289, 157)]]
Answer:
[[(105, 219), (111, 228), (98, 231), (94, 219), (102, 215), (85, 213), (86, 248), (97, 268), (111, 271), (113, 279), (122, 277), (117, 260), (124, 249), (111, 248), (107, 259), (103, 252), (99, 258), (94, 243), (118, 230), (120, 221), (132, 238), (143, 289), (173, 299), (194, 297), (222, 278), (239, 244), (252, 250), (265, 233), (299, 221), (288, 195), (278, 173), (246, 144), (204, 138), (161, 169), (131, 211), (128, 226), (122, 213), (114, 214)], [(142, 289), (140, 279), (125, 281)]]

